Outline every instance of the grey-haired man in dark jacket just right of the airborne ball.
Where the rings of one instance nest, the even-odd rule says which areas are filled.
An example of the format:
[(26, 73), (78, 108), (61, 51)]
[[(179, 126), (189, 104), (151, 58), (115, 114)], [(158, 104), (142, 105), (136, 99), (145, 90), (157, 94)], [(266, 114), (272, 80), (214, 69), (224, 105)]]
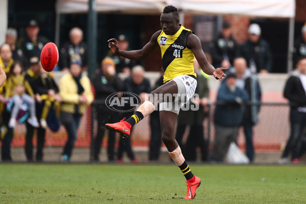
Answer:
[(83, 41), (83, 31), (78, 27), (72, 28), (69, 32), (69, 41), (65, 42), (60, 49), (60, 69), (68, 71), (70, 61), (74, 58), (80, 58), (83, 67), (86, 67), (87, 55), (87, 44)]

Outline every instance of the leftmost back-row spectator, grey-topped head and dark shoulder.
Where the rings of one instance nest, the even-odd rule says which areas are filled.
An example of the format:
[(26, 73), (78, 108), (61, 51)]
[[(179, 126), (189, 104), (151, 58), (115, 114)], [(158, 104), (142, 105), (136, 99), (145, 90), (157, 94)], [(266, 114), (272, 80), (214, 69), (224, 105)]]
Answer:
[(6, 32), (5, 43), (8, 43), (11, 46), (11, 50), (13, 53), (14, 61), (22, 62), (23, 60), (23, 53), (20, 48), (17, 48), (17, 31), (14, 28), (8, 28)]

